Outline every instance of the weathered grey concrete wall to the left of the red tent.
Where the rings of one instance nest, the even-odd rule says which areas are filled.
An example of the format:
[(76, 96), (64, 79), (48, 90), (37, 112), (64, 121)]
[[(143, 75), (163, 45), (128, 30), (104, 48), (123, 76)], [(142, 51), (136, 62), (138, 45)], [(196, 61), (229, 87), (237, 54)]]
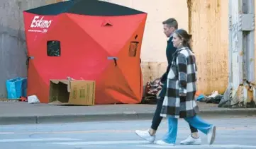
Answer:
[(57, 0), (0, 1), (0, 98), (6, 97), (5, 82), (9, 78), (26, 76), (26, 42), (23, 13)]

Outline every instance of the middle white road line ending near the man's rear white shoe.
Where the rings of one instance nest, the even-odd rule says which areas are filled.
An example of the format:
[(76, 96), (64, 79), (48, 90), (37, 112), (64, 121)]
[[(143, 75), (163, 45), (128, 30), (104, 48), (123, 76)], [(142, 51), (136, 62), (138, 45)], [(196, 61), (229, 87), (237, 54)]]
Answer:
[(148, 143), (148, 141), (87, 141), (87, 142), (57, 142), (49, 144), (60, 144), (60, 145), (111, 145), (111, 144), (138, 144)]

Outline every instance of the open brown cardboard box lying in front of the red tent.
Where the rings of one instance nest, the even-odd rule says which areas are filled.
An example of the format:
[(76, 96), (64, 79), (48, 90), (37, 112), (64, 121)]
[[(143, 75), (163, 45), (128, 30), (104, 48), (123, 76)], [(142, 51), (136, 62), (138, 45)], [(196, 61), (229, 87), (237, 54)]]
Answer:
[(50, 105), (94, 105), (95, 81), (50, 80)]

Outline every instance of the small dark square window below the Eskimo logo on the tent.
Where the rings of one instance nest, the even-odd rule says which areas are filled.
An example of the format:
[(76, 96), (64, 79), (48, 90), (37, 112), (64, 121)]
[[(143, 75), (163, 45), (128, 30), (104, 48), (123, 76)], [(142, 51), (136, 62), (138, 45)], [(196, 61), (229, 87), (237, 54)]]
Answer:
[(51, 40), (47, 42), (47, 55), (60, 56), (60, 41)]

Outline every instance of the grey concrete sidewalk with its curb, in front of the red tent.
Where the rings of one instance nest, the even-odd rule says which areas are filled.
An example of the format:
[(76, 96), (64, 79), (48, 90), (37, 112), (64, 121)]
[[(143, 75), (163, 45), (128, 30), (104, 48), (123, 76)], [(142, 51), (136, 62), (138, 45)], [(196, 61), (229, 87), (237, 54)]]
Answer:
[[(256, 116), (255, 109), (218, 108), (198, 102), (202, 117)], [(79, 121), (152, 119), (156, 105), (56, 106), (28, 102), (0, 102), (0, 124), (45, 124)]]

